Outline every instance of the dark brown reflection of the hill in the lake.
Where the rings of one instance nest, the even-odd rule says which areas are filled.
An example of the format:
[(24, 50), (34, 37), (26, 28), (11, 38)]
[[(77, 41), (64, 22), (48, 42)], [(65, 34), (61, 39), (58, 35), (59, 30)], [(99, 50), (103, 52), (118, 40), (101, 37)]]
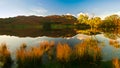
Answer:
[(74, 29), (52, 29), (52, 30), (42, 30), (39, 28), (27, 28), (27, 29), (15, 29), (6, 28), (0, 29), (0, 35), (14, 35), (19, 37), (38, 37), (38, 36), (50, 36), (50, 37), (71, 37), (76, 35)]

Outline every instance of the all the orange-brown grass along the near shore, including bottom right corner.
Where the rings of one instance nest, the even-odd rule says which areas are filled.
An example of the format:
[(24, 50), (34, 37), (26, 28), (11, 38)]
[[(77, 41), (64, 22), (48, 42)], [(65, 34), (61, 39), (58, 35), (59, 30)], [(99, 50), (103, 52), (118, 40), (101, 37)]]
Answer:
[[(114, 42), (110, 42), (114, 44)], [(46, 59), (47, 64), (44, 64), (43, 58)], [(52, 68), (85, 68), (85, 66), (94, 66), (92, 68), (100, 67), (102, 56), (101, 48), (98, 46), (98, 42), (94, 39), (86, 39), (82, 43), (70, 47), (65, 43), (58, 43), (55, 46), (53, 41), (43, 41), (39, 46), (33, 46), (27, 48), (27, 45), (23, 43), (16, 51), (17, 68), (46, 68), (43, 65), (48, 65), (48, 62)], [(8, 51), (6, 44), (0, 46), (0, 65), (3, 68), (8, 64), (11, 65), (12, 60), (10, 52)], [(120, 61), (117, 58), (112, 60), (113, 68), (120, 68)], [(55, 67), (56, 66), (56, 67)], [(47, 66), (49, 67), (49, 66)]]

